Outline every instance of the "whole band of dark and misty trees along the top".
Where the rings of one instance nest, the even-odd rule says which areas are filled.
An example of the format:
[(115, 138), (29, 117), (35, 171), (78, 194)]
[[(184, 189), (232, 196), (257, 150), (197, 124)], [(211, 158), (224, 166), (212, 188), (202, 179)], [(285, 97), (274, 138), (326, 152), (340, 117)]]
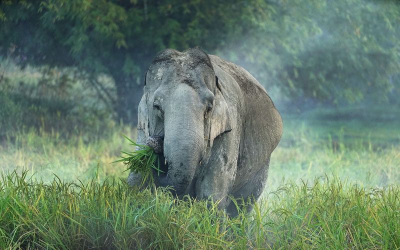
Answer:
[(0, 21), (1, 56), (79, 69), (133, 124), (144, 71), (166, 47), (199, 45), (233, 60), (289, 102), (398, 105), (396, 0), (8, 0)]

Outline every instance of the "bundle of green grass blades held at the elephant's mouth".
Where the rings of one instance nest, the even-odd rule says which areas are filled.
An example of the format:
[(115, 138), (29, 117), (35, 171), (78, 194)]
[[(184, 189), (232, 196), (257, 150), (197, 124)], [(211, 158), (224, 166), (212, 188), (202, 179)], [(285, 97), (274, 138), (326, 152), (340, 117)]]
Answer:
[(142, 177), (141, 185), (146, 182), (152, 183), (153, 175), (151, 169), (155, 169), (158, 175), (160, 172), (164, 172), (160, 169), (159, 155), (154, 152), (153, 148), (147, 145), (137, 144), (123, 134), (122, 136), (129, 141), (129, 145), (132, 145), (134, 150), (121, 151), (121, 153), (123, 153), (121, 159), (114, 162), (122, 162), (126, 167), (125, 171), (139, 173)]

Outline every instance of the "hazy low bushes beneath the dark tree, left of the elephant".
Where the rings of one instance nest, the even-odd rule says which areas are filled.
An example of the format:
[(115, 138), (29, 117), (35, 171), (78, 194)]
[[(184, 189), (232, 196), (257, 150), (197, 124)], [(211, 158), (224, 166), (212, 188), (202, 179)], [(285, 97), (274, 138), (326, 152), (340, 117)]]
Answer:
[[(75, 71), (8, 65), (0, 82), (0, 139), (43, 130), (84, 142), (106, 136), (116, 121), (112, 108)], [(111, 88), (107, 77), (104, 86)]]

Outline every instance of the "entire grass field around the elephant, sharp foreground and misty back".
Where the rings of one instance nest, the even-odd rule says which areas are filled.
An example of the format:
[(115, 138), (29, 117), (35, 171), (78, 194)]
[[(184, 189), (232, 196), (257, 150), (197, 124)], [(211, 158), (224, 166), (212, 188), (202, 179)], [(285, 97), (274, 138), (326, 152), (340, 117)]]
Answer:
[(90, 141), (22, 130), (0, 144), (0, 248), (400, 248), (398, 117), (394, 108), (283, 114), (264, 194), (236, 218), (215, 203), (127, 188), (123, 165), (110, 162), (131, 127)]

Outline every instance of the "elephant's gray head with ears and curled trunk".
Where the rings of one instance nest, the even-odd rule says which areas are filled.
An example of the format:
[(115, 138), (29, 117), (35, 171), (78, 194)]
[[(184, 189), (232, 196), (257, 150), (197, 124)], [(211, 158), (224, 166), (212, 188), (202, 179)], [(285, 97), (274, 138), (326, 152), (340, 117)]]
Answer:
[(138, 123), (149, 136), (164, 138), (166, 164), (164, 173), (154, 174), (155, 183), (185, 194), (215, 137), (231, 129), (223, 87), (208, 55), (200, 49), (160, 52), (146, 72), (143, 98)]

